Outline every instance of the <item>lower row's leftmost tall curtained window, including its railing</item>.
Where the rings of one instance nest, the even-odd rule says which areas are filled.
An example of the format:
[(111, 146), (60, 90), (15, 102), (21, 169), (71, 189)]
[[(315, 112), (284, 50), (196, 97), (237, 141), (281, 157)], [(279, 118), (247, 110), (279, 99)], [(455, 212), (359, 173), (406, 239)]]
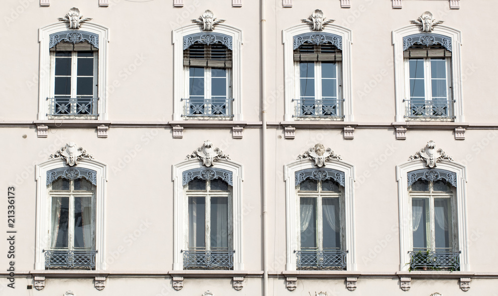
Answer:
[(46, 269), (95, 269), (95, 185), (58, 178), (49, 187), (50, 248)]

